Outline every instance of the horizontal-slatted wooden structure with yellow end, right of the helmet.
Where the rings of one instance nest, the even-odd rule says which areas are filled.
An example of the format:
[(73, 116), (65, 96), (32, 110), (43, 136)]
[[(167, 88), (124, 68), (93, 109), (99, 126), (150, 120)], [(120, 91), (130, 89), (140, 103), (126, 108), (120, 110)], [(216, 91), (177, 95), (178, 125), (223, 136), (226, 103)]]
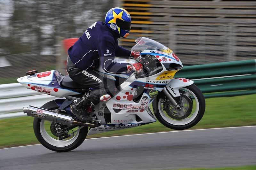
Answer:
[(169, 46), (184, 64), (255, 59), (256, 1), (122, 0), (138, 36)]

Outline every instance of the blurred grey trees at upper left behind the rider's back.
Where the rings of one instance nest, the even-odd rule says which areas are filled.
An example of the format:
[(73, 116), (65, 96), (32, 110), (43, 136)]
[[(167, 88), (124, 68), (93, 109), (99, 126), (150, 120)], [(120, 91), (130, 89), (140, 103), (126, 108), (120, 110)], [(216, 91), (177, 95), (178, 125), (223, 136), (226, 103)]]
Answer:
[(103, 21), (112, 0), (1, 0), (0, 56), (40, 51), (52, 55), (59, 37), (79, 37)]

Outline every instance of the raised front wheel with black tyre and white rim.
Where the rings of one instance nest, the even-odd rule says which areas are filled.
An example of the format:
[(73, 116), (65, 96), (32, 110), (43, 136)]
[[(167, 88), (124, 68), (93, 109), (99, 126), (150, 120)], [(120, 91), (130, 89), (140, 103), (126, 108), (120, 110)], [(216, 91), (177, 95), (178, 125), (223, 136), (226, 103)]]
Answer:
[(203, 117), (205, 99), (201, 90), (195, 85), (180, 89), (181, 109), (175, 109), (167, 97), (159, 95), (153, 102), (154, 113), (167, 128), (175, 130), (188, 129), (195, 126)]

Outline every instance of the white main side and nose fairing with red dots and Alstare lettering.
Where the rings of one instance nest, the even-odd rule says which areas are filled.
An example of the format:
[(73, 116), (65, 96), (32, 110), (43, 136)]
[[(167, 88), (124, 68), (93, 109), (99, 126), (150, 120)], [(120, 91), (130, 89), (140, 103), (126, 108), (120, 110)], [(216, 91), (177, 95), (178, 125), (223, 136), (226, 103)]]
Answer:
[[(157, 53), (157, 50), (154, 50), (155, 53), (150, 53), (150, 50), (144, 50), (141, 54), (147, 54), (150, 53), (150, 55), (154, 55), (159, 62), (164, 63), (177, 63), (180, 66), (182, 66), (181, 61), (177, 61), (173, 57), (169, 57), (167, 61), (161, 60), (161, 57), (166, 57), (167, 55), (172, 55), (172, 52), (167, 54), (163, 53), (163, 55), (159, 55)], [(161, 57), (159, 57), (161, 56)], [(170, 60), (169, 60), (170, 58)], [(116, 60), (117, 61), (117, 60)], [(118, 59), (119, 62), (127, 62), (127, 59)], [(128, 60), (128, 62), (136, 62), (136, 60)], [(111, 111), (111, 120), (110, 124), (101, 125), (97, 128), (91, 128), (88, 134), (95, 134), (100, 133), (108, 130), (119, 130), (123, 128), (132, 128), (137, 127), (143, 124), (148, 124), (156, 121), (156, 118), (151, 114), (151, 109), (149, 107), (149, 104), (151, 104), (154, 100), (154, 98), (157, 96), (159, 92), (163, 90), (163, 88), (170, 83), (172, 80), (174, 74), (178, 71), (174, 70), (166, 70), (164, 65), (162, 64), (163, 69), (159, 73), (156, 73), (154, 75), (148, 76), (148, 77), (142, 77), (135, 79), (135, 74), (109, 74), (104, 73), (104, 71), (99, 68), (98, 71), (100, 71), (102, 74), (108, 74), (113, 77), (116, 76), (122, 76), (123, 78), (126, 78), (126, 80), (120, 84), (118, 87), (119, 92), (112, 97), (107, 103), (107, 109), (108, 112)], [(182, 66), (183, 67), (183, 66)], [(164, 77), (162, 80), (159, 78), (160, 75), (168, 74), (172, 75)], [(139, 101), (133, 101), (135, 96), (135, 91), (137, 87), (143, 87), (142, 95), (139, 99)], [(97, 106), (98, 108), (101, 107), (102, 110), (105, 110), (102, 106)], [(103, 116), (99, 116), (97, 113), (100, 112), (100, 110), (96, 110), (96, 116), (99, 120), (102, 121), (102, 123), (106, 123)], [(102, 111), (101, 110), (101, 111)], [(104, 112), (105, 114), (105, 112)], [(137, 116), (140, 118), (139, 120), (136, 120)]]

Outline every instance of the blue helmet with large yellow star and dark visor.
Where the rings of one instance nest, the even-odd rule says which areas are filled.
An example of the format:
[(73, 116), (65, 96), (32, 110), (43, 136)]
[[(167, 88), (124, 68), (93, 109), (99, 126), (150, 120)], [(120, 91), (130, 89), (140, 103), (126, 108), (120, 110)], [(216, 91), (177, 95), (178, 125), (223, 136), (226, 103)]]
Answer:
[(124, 38), (129, 35), (131, 22), (129, 12), (123, 8), (111, 8), (105, 17), (105, 24)]

